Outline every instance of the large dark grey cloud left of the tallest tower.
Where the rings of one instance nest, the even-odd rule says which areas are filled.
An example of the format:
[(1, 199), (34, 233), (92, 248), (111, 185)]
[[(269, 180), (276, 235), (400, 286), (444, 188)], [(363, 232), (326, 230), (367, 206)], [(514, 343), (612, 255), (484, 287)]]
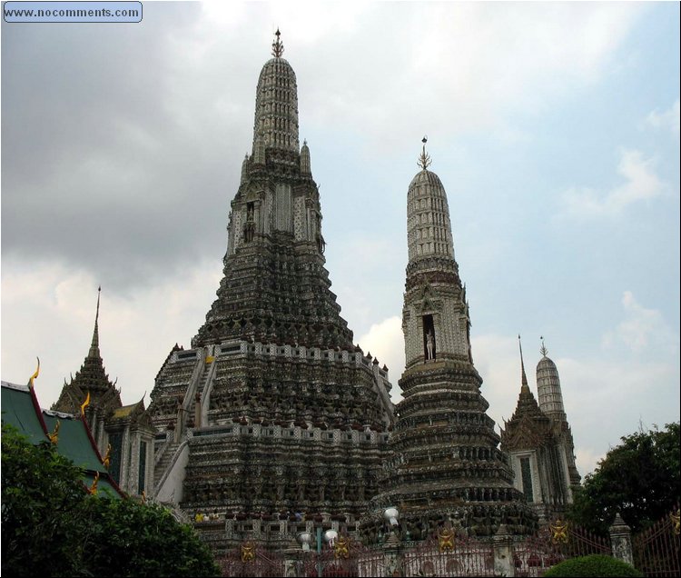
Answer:
[(145, 5), (138, 26), (3, 25), (3, 254), (78, 265), (121, 291), (222, 256), (256, 79), (233, 55), (190, 62), (197, 14)]

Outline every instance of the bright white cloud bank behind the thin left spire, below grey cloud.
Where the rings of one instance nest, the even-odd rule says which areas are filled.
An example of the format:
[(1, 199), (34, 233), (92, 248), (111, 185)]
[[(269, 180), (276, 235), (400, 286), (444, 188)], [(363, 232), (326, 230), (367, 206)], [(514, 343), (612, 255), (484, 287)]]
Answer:
[[(103, 284), (100, 351), (112, 381), (118, 378), (123, 404), (151, 394), (175, 342), (190, 346), (221, 276), (219, 263), (201, 262), (163, 285), (133, 294), (113, 294)], [(3, 379), (26, 383), (39, 356), (36, 387), (44, 407), (56, 401), (64, 378), (75, 374), (87, 355), (97, 284), (91, 274), (58, 264), (3, 267)]]

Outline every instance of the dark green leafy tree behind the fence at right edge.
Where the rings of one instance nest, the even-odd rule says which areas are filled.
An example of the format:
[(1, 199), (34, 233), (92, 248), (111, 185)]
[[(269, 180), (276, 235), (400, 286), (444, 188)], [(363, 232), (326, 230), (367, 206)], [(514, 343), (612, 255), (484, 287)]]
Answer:
[(619, 512), (633, 532), (656, 523), (679, 503), (679, 424), (656, 425), (621, 438), (576, 488), (568, 519), (607, 535)]

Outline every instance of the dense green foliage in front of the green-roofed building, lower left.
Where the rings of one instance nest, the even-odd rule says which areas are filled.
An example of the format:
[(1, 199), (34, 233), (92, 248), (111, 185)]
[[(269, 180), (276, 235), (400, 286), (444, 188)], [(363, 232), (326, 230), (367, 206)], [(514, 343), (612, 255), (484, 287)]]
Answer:
[(213, 576), (191, 526), (162, 506), (89, 495), (49, 442), (3, 425), (2, 571), (13, 576)]

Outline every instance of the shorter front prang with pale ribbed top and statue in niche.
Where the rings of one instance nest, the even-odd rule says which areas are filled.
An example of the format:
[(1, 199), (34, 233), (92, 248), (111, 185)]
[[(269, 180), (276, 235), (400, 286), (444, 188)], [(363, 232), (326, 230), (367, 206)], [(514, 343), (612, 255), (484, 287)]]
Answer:
[[(513, 487), (508, 457), (499, 451), (494, 421), (486, 414), (447, 195), (429, 164), (424, 138), (421, 171), (407, 194), (404, 399), (397, 406), (393, 455), (381, 483), (386, 491), (373, 501), (373, 519), (381, 508), (396, 506), (412, 539), (447, 522), (470, 535), (491, 535), (500, 523), (512, 533), (526, 533), (536, 517)], [(378, 532), (370, 519), (364, 527), (368, 539)]]

